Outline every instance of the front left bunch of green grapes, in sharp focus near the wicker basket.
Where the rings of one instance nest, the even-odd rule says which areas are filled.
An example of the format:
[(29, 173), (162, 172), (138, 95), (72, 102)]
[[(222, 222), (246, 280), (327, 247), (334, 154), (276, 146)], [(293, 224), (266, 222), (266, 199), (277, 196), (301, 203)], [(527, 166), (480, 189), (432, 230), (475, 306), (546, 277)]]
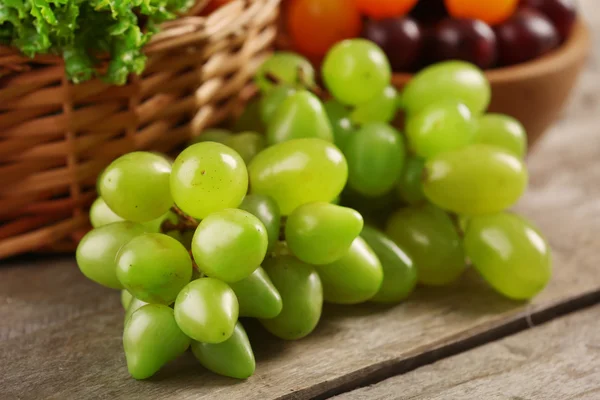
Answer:
[[(255, 359), (239, 317), (294, 340), (315, 329), (324, 298), (377, 294), (383, 270), (359, 237), (362, 216), (331, 203), (347, 181), (342, 152), (314, 137), (265, 143), (258, 133), (213, 130), (173, 162), (130, 153), (100, 176), (77, 262), (122, 290), (134, 378), (191, 347), (211, 371), (245, 379)], [(356, 269), (345, 281), (320, 273), (343, 259)]]

